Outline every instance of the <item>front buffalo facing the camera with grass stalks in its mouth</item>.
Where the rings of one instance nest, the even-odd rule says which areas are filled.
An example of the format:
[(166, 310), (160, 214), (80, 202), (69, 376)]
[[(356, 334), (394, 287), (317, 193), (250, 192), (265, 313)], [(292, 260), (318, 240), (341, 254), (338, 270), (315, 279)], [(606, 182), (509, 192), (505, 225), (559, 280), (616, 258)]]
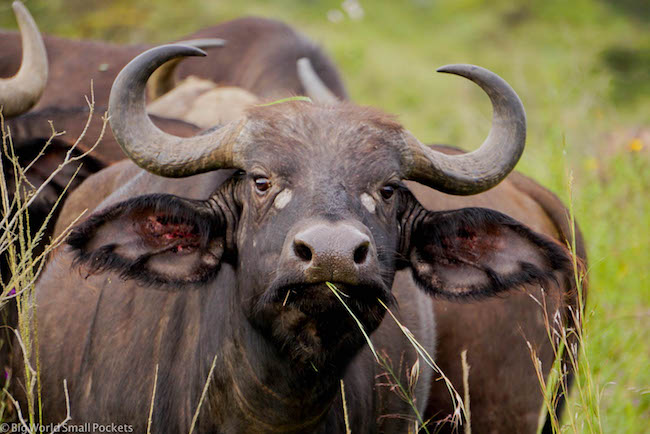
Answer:
[[(533, 432), (542, 397), (525, 339), (545, 372), (553, 350), (530, 296), (564, 318), (572, 271), (561, 203), (504, 181), (525, 144), (512, 88), (476, 66), (439, 70), (492, 102), (490, 134), (468, 154), (351, 103), (260, 105), (191, 138), (165, 133), (146, 113), (147, 78), (201, 54), (157, 47), (115, 80), (110, 123), (130, 160), (71, 194), (57, 232), (94, 211), (35, 289), (45, 419), (66, 415), (64, 380), (73, 423), (136, 432), (150, 406), (166, 432), (406, 432), (418, 416), (443, 419), (449, 396), (388, 306), (443, 365), (469, 350), (475, 430)], [(412, 385), (413, 406), (396, 382)]]

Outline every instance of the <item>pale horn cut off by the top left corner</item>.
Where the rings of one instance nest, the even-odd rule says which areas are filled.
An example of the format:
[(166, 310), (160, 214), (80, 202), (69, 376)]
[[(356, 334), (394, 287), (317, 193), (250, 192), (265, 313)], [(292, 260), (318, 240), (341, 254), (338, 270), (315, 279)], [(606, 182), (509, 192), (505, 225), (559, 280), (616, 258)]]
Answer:
[(5, 117), (29, 110), (40, 98), (47, 82), (47, 53), (38, 27), (19, 1), (12, 5), (20, 27), (23, 60), (11, 78), (0, 79), (0, 106)]

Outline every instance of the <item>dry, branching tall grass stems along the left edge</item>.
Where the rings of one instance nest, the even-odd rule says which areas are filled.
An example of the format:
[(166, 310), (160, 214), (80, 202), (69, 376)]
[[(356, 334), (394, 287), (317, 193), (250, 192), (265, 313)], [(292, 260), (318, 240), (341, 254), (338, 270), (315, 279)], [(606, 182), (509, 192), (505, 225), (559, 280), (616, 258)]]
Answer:
[[(54, 125), (50, 123), (52, 128), (50, 138), (34, 160), (25, 167), (22, 167), (19, 163), (17, 150), (14, 148), (11, 131), (5, 124), (4, 117), (0, 111), (2, 153), (4, 157), (0, 159), (0, 170), (3, 173), (2, 179), (0, 180), (0, 201), (2, 206), (2, 219), (0, 220), (0, 256), (8, 268), (8, 275), (0, 276), (0, 284), (2, 285), (0, 309), (8, 308), (11, 310), (13, 306), (10, 304), (15, 303), (17, 312), (16, 329), (10, 330), (10, 333), (5, 334), (6, 342), (3, 342), (3, 345), (7, 347), (4, 347), (3, 350), (11, 352), (13, 355), (16, 355), (19, 351), (22, 355), (24, 378), (22, 379), (23, 384), (19, 387), (23, 389), (27, 408), (20, 408), (19, 403), (9, 393), (11, 382), (10, 373), (8, 374), (8, 379), (2, 390), (2, 394), (3, 401), (8, 399), (13, 404), (15, 417), (22, 424), (24, 431), (29, 433), (34, 432), (37, 426), (42, 425), (43, 422), (43, 397), (41, 393), (41, 366), (39, 362), (38, 341), (39, 331), (36, 321), (37, 306), (35, 303), (34, 284), (45, 266), (47, 256), (63, 243), (65, 235), (68, 232), (67, 229), (69, 228), (66, 228), (61, 234), (58, 234), (50, 240), (44, 240), (43, 235), (48, 225), (52, 225), (51, 218), (60, 206), (62, 198), (67, 193), (80, 166), (68, 181), (63, 193), (54, 203), (45, 221), (35, 231), (32, 230), (33, 223), (30, 221), (29, 207), (66, 166), (82, 160), (102, 140), (108, 122), (106, 115), (103, 117), (103, 128), (95, 144), (86, 152), (75, 155), (75, 151), (83, 140), (94, 116), (95, 102), (92, 90), (90, 99), (87, 99), (87, 103), (90, 110), (85, 128), (68, 149), (63, 161), (41, 185), (31, 184), (27, 178), (27, 174), (38, 159), (47, 152), (52, 141), (64, 132), (57, 132)], [(5, 164), (9, 165), (12, 169), (12, 187), (10, 187), (8, 180), (4, 176), (4, 173), (7, 173), (4, 167)], [(74, 225), (81, 217), (81, 215), (78, 216), (70, 226)], [(13, 341), (19, 348), (11, 348), (10, 341)], [(66, 382), (61, 387), (64, 389), (67, 399), (68, 390)], [(61, 429), (63, 424), (70, 420), (69, 400), (66, 404), (68, 406), (68, 415), (57, 429)], [(23, 412), (25, 413), (24, 415)], [(2, 416), (4, 420), (5, 414), (3, 413)]]

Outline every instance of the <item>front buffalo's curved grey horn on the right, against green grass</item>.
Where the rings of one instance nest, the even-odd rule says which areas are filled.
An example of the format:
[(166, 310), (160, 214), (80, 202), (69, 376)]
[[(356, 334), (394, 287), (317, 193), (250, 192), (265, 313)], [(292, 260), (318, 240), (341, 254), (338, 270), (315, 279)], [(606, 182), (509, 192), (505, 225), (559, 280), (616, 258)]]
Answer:
[(456, 195), (477, 194), (501, 182), (515, 167), (526, 143), (526, 113), (515, 91), (501, 77), (474, 65), (447, 65), (438, 72), (478, 84), (492, 102), (492, 128), (480, 148), (446, 155), (406, 134), (406, 179)]

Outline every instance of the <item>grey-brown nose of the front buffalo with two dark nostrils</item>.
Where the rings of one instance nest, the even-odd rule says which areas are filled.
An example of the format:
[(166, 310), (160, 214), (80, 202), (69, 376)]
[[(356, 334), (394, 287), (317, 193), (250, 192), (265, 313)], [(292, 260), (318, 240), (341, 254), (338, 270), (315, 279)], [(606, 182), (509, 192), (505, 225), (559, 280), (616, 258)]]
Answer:
[(307, 282), (355, 285), (360, 274), (375, 265), (370, 236), (349, 223), (310, 225), (293, 238), (289, 262), (304, 272)]

